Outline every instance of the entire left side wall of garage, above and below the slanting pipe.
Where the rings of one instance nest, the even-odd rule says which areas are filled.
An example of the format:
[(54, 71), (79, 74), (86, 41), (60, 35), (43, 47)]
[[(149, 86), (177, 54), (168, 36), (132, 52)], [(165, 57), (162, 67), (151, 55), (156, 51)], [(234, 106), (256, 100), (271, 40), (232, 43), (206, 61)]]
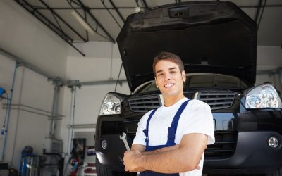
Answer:
[[(23, 58), (27, 63), (36, 65), (44, 73), (54, 77), (66, 77), (66, 61), (68, 44), (54, 32), (47, 29), (39, 20), (27, 13), (15, 1), (0, 1), (0, 48)], [(15, 61), (0, 54), (0, 87), (7, 90), (12, 86)], [(44, 111), (51, 111), (54, 85), (47, 77), (20, 66), (16, 69), (15, 86), (13, 89), (14, 104), (23, 104)], [(63, 91), (62, 91), (63, 95)], [(59, 105), (59, 113), (62, 113)], [(0, 101), (0, 125), (4, 125), (6, 109), (2, 109), (6, 100)], [(23, 108), (21, 106), (20, 108)], [(25, 109), (29, 110), (29, 109)], [(38, 110), (37, 112), (41, 112)], [(34, 153), (42, 154), (44, 139), (49, 136), (50, 121), (46, 115), (12, 109), (6, 138), (4, 161), (11, 162), (19, 169), (21, 151), (24, 146), (32, 146)], [(0, 149), (3, 146), (0, 138)], [(0, 156), (1, 157), (1, 156)], [(0, 158), (1, 161), (1, 158)]]

